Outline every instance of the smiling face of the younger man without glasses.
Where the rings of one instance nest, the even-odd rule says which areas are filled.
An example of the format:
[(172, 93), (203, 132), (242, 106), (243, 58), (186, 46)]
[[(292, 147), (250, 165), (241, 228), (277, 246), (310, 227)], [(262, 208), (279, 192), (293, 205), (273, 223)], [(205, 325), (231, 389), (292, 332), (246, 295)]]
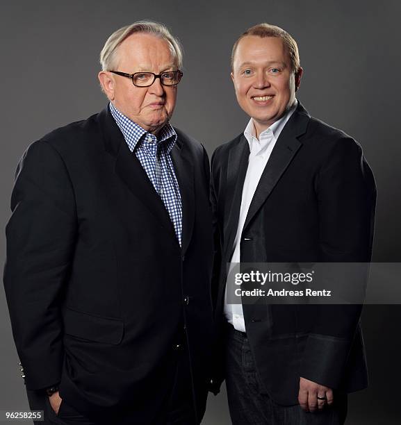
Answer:
[(295, 101), (302, 68), (291, 71), (280, 38), (246, 35), (238, 43), (231, 78), (240, 107), (254, 119), (258, 133), (281, 118)]

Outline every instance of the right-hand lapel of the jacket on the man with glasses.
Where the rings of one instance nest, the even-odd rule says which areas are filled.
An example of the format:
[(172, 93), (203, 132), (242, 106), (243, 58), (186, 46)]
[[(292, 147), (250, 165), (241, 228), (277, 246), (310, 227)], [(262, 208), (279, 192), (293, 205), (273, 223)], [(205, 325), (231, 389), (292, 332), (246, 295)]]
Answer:
[(188, 149), (177, 139), (171, 151), (172, 163), (179, 184), (182, 203), (181, 250), (185, 255), (193, 233), (195, 217), (195, 188), (193, 163), (188, 158)]

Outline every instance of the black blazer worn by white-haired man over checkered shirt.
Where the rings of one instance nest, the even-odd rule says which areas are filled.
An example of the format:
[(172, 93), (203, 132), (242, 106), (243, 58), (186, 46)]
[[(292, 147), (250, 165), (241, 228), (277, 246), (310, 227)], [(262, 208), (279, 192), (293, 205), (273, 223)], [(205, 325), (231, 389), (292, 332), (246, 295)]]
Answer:
[(182, 249), (108, 108), (24, 153), (4, 285), (28, 390), (60, 381), (60, 396), (85, 415), (126, 403), (132, 423), (150, 423), (183, 338), (195, 395), (204, 394), (213, 333), (208, 158), (177, 134)]

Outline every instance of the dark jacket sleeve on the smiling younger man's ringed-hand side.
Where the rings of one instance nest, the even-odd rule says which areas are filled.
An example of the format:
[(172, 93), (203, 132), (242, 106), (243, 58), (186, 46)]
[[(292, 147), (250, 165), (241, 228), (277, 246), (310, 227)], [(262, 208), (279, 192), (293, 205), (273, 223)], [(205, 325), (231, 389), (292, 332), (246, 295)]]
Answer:
[[(350, 138), (338, 140), (322, 165), (315, 186), (320, 262), (368, 263), (373, 244), (376, 188), (359, 144)], [(331, 388), (341, 386), (361, 308), (358, 304), (316, 306), (314, 328), (301, 359), (300, 376)]]

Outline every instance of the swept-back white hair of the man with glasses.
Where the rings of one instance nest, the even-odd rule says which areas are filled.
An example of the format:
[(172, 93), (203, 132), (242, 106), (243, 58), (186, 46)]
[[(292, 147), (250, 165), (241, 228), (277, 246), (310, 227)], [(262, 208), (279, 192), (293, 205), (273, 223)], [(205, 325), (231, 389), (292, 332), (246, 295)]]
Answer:
[(120, 44), (133, 33), (146, 33), (152, 34), (156, 37), (160, 37), (166, 40), (172, 47), (172, 53), (174, 53), (177, 60), (177, 67), (181, 69), (183, 51), (181, 43), (175, 38), (168, 28), (160, 24), (159, 22), (153, 21), (138, 21), (131, 25), (123, 26), (117, 29), (106, 41), (103, 49), (100, 52), (100, 64), (103, 71), (111, 71), (115, 64), (115, 56), (117, 48)]

